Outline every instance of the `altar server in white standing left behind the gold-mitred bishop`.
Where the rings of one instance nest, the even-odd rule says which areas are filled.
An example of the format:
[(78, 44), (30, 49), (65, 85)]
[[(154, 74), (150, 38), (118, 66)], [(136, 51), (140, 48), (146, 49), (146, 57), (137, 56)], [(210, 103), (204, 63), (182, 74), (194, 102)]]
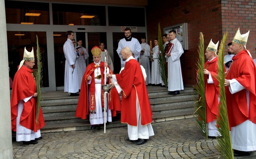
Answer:
[(78, 78), (78, 87), (81, 88), (81, 82), (82, 78), (86, 69), (86, 59), (89, 57), (88, 51), (82, 47), (83, 41), (81, 39), (77, 40), (78, 46), (76, 48), (79, 48), (78, 55), (76, 56), (76, 68), (77, 68), (77, 78)]

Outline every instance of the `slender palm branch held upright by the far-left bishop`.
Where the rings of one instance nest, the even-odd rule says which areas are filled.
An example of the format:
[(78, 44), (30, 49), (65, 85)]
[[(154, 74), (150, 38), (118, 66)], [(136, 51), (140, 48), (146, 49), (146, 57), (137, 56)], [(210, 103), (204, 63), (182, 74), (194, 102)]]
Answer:
[(35, 72), (35, 83), (37, 85), (37, 114), (36, 114), (36, 123), (38, 123), (38, 116), (39, 116), (39, 110), (41, 107), (41, 100), (42, 100), (42, 87), (41, 87), (41, 82), (42, 82), (42, 62), (41, 62), (41, 52), (39, 48), (39, 43), (38, 43), (38, 36), (37, 37), (37, 72)]

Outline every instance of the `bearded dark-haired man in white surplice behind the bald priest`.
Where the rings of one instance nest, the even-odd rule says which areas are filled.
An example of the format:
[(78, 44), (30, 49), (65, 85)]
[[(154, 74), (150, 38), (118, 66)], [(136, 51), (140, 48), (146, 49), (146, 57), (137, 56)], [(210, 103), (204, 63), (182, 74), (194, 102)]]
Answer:
[(134, 58), (138, 60), (141, 51), (141, 46), (140, 42), (136, 38), (131, 37), (130, 28), (125, 28), (125, 38), (121, 39), (118, 42), (118, 48), (116, 50), (121, 60), (121, 68), (125, 67), (125, 61), (122, 60), (121, 56), (121, 50), (125, 47), (129, 47), (134, 54)]

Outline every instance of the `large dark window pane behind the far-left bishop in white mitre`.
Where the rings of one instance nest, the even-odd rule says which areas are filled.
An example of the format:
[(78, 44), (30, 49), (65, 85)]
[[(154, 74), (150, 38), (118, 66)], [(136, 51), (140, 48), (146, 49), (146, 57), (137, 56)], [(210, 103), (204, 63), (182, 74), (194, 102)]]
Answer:
[[(15, 34), (19, 35), (17, 36)], [(35, 65), (33, 70), (37, 71), (36, 35), (38, 35), (39, 47), (42, 54), (42, 85), (43, 87), (49, 87), (46, 32), (7, 31), (8, 60), (10, 68), (9, 76), (13, 79), (15, 73), (17, 72), (19, 63), (23, 60), (25, 47), (29, 52), (31, 52), (33, 47), (35, 57)]]

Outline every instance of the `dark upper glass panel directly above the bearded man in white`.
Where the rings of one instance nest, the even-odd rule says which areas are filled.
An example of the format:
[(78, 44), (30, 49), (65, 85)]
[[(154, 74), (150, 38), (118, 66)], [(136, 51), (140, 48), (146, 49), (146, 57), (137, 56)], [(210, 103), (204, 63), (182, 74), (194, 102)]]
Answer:
[[(144, 8), (108, 7), (109, 26), (136, 26), (145, 27)], [(127, 14), (126, 18), (120, 18), (120, 14)]]

